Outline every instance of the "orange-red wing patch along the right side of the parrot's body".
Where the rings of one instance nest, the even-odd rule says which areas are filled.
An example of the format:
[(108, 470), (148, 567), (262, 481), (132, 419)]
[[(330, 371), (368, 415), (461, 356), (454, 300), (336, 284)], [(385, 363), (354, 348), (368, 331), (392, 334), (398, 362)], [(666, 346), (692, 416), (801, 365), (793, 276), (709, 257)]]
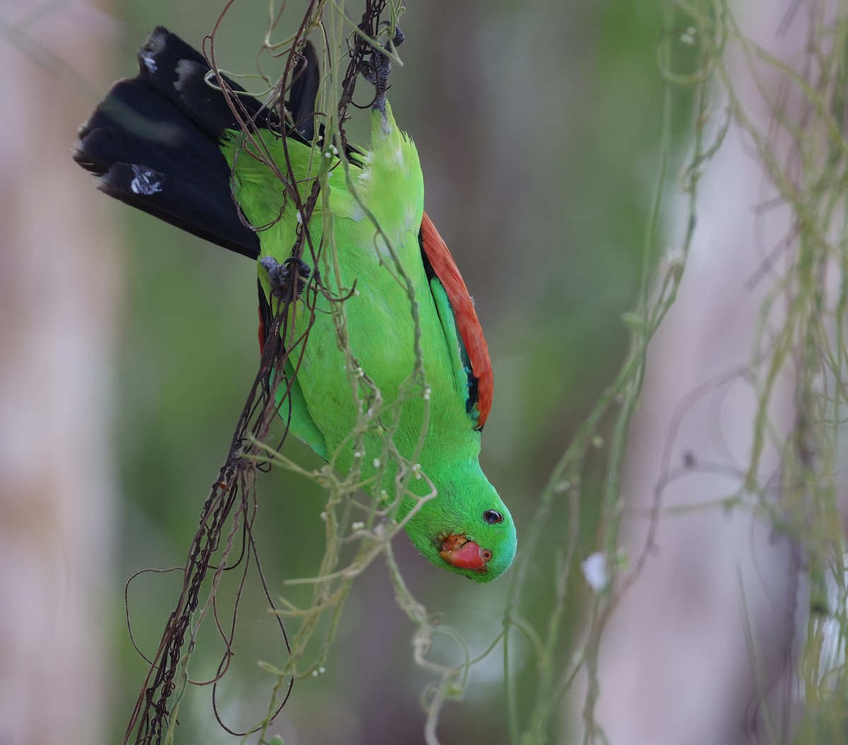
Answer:
[(451, 307), (454, 309), (457, 331), (460, 332), (462, 343), (466, 347), (468, 361), (471, 363), (471, 373), (477, 378), (477, 425), (482, 430), (486, 424), (488, 413), (492, 409), (494, 395), (494, 373), (492, 360), (488, 356), (488, 346), (483, 338), (483, 328), (477, 320), (474, 302), (468, 294), (465, 281), (457, 269), (454, 257), (438, 234), (432, 220), (424, 213), (421, 220), (421, 245), (432, 270), (444, 286)]

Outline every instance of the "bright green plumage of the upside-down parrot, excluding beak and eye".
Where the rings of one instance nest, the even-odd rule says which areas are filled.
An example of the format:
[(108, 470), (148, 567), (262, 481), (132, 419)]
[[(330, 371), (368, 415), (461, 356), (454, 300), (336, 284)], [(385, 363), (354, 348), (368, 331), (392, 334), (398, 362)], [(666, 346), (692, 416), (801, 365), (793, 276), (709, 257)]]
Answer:
[[(281, 141), (269, 135), (265, 146), (277, 163), (284, 163)], [(235, 197), (252, 225), (271, 225), (259, 232), (260, 258), (271, 256), (282, 263), (296, 241), (297, 215), (293, 207), (284, 207), (284, 192), (276, 175), (252, 157), (250, 149), (240, 132), (232, 132), (224, 143), (227, 161), (235, 166)], [(317, 148), (292, 139), (287, 149), (303, 197), (310, 192), (319, 168), (329, 171), (328, 202), (335, 250), (330, 242), (324, 242), (318, 263), (322, 285), (330, 297), (345, 297), (355, 286), (354, 295), (341, 304), (351, 353), (363, 375), (382, 395), (381, 420), (386, 425), (395, 414), (393, 402), (404, 390), (393, 442), (404, 459), (421, 464), (421, 470), (438, 489), (438, 498), (422, 505), (407, 531), (417, 548), (435, 564), (477, 581), (494, 579), (509, 567), (515, 554), (515, 528), (509, 511), (480, 469), (480, 433), (474, 430), (466, 409), (468, 386), (460, 338), (444, 288), (436, 277), (431, 286), (421, 259), (418, 234), (424, 184), (416, 147), (395, 125), (391, 108), (387, 107), (386, 114), (372, 112), (371, 149), (361, 158), (362, 168), (349, 169), (359, 199), (351, 193), (338, 158), (323, 157)], [(309, 225), (314, 245), (321, 242), (323, 234), (321, 206), (319, 199)], [(305, 251), (304, 259), (309, 263)], [(414, 290), (414, 300), (399, 269)], [(261, 266), (259, 278), (268, 295), (268, 275)], [(307, 297), (309, 291), (304, 292), (304, 299)], [(416, 370), (413, 310), (418, 314), (427, 394), (412, 380)], [(310, 324), (310, 311), (301, 301), (295, 303), (291, 313), (296, 338)], [(315, 296), (309, 342), (304, 349), (294, 348), (289, 359), (298, 359), (301, 353), (290, 431), (325, 459), (334, 459), (341, 470), (352, 467), (354, 453), (358, 453), (366, 479), (377, 473), (377, 459), (385, 474), (376, 492), (384, 490), (393, 495), (398, 464), (388, 455), (384, 438), (372, 429), (362, 447), (351, 437), (359, 415), (354, 390), (361, 392), (362, 388), (355, 386), (355, 365), (352, 369), (346, 364), (338, 347), (332, 302), (323, 292)], [(291, 367), (287, 374), (293, 375)], [(374, 404), (373, 399), (365, 403), (365, 408)], [(415, 458), (426, 407), (429, 426)], [(282, 414), (287, 416), (287, 405), (282, 407)], [(356, 449), (359, 447), (361, 450)], [(413, 478), (410, 491), (419, 496), (427, 494), (427, 481)], [(400, 514), (414, 504), (415, 500), (406, 498)], [(488, 525), (483, 520), (487, 509), (503, 514), (504, 522)], [(457, 533), (492, 551), (493, 559), (485, 573), (451, 566), (439, 556), (440, 537)]]

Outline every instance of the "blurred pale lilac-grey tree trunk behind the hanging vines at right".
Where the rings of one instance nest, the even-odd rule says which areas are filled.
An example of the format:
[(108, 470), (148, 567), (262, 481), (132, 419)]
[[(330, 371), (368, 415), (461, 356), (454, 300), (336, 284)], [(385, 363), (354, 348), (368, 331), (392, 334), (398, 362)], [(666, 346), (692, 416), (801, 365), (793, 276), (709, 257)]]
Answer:
[[(736, 3), (735, 12), (745, 36), (812, 75), (805, 42), (815, 5)], [(768, 133), (776, 161), (791, 168), (793, 135), (774, 106), (799, 124), (800, 97), (789, 95), (787, 79), (773, 66), (745, 58), (734, 42), (726, 63), (745, 114)], [(712, 504), (661, 517), (656, 551), (605, 632), (597, 715), (616, 745), (792, 737), (796, 635), (806, 611), (800, 549), (748, 510), (719, 507), (741, 486), (758, 426), (755, 386), (739, 371), (752, 364), (756, 348), (767, 347), (756, 343), (767, 333), (763, 326), (784, 323), (782, 301), (767, 319), (759, 314), (797, 248), (794, 215), (768, 180), (750, 136), (735, 123), (706, 166), (696, 214), (678, 301), (650, 348), (644, 407), (629, 437), (622, 492), (632, 508), (625, 531), (631, 557), (644, 546), (645, 515), (669, 444), (668, 467), (691, 468), (662, 490), (662, 506)], [(772, 269), (762, 272), (767, 261)], [(775, 491), (780, 456), (771, 443), (795, 424), (790, 377), (784, 370), (767, 412), (778, 434), (767, 436), (760, 483)]]

